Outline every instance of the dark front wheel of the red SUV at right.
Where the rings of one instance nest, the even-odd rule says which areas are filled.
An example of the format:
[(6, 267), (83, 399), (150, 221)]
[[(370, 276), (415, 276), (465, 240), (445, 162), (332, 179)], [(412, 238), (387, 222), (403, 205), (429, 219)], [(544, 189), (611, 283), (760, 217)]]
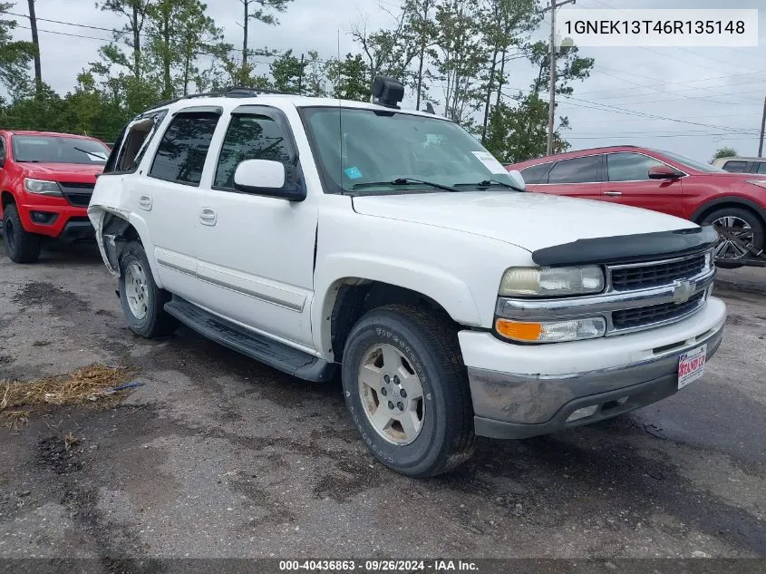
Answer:
[[(717, 231), (725, 231), (731, 238), (743, 243), (752, 243), (756, 248), (763, 248), (763, 224), (761, 219), (748, 209), (716, 209), (701, 221), (702, 225), (712, 225)], [(742, 260), (751, 258), (751, 252), (743, 245), (721, 236), (715, 246), (715, 264), (720, 268), (741, 268)]]

